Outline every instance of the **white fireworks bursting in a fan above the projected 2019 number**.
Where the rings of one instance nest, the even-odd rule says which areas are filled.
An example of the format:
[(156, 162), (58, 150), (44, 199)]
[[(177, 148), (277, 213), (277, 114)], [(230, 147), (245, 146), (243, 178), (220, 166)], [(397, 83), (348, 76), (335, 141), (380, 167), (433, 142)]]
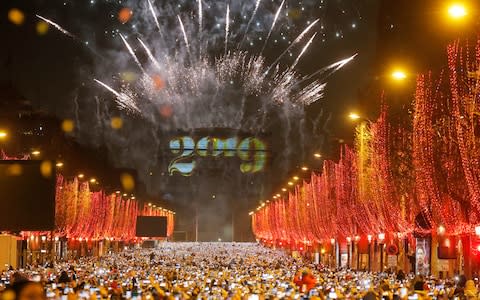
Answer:
[[(354, 55), (335, 62), (308, 76), (297, 73), (296, 66), (319, 32), (316, 28), (319, 23), (317, 19), (306, 26), (290, 45), (280, 50), (280, 55), (271, 60), (273, 63), (267, 63), (263, 52), (280, 22), (285, 0), (275, 8), (271, 22), (265, 30), (266, 34), (261, 39), (264, 40), (263, 47), (259, 51), (247, 51), (242, 48), (242, 44), (249, 38), (255, 18), (261, 17), (260, 8), (264, 5), (261, 0), (255, 1), (250, 17), (244, 19), (246, 25), (237, 24), (238, 18), (235, 19), (239, 11), (238, 4), (226, 4), (223, 6), (223, 13), (212, 16), (212, 11), (220, 11), (211, 8), (217, 3), (208, 3), (207, 8), (203, 6), (202, 0), (191, 0), (195, 9), (188, 12), (188, 17), (175, 13), (175, 17), (169, 19), (163, 16), (172, 15), (174, 10), (171, 7), (156, 6), (152, 0), (144, 1), (144, 13), (136, 15), (149, 16), (142, 18), (142, 21), (153, 19), (152, 28), (156, 30), (138, 32), (134, 39), (119, 34), (126, 52), (141, 71), (140, 79), (114, 83), (114, 86), (118, 86), (117, 89), (97, 79), (95, 82), (115, 96), (120, 109), (144, 117), (152, 116), (152, 104), (153, 107), (168, 104), (175, 112), (173, 121), (177, 128), (241, 128), (242, 124), (247, 122), (246, 119), (264, 120), (260, 117), (264, 113), (262, 111), (246, 115), (246, 99), (252, 97), (261, 102), (264, 109), (283, 106), (291, 115), (298, 115), (303, 113), (304, 106), (323, 97), (326, 77), (355, 57)], [(207, 25), (211, 22), (205, 21), (207, 18), (216, 20), (211, 28)], [(48, 22), (61, 32), (73, 36), (52, 21)], [(163, 30), (172, 26), (178, 29)], [(222, 27), (223, 38), (219, 38), (221, 35), (218, 30)], [(312, 31), (314, 32), (310, 35)], [(310, 35), (310, 38), (302, 46), (301, 43), (307, 35)], [(183, 43), (179, 43), (179, 40)], [(215, 51), (219, 48), (219, 40), (223, 40), (221, 55)], [(297, 50), (299, 53), (293, 63), (284, 61), (287, 53)], [(145, 54), (147, 61), (137, 56), (139, 51)], [(322, 75), (326, 76), (322, 79)], [(162, 81), (161, 85), (158, 84), (159, 80)], [(257, 129), (264, 125), (258, 122)]]

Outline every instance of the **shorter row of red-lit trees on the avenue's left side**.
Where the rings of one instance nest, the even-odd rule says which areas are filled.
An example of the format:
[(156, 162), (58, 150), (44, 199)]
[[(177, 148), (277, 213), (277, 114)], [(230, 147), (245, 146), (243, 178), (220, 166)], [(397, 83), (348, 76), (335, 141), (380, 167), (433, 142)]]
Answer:
[[(0, 160), (26, 160), (30, 157), (8, 157), (0, 152)], [(174, 230), (175, 212), (157, 207), (152, 203), (140, 203), (127, 194), (106, 193), (91, 190), (91, 181), (82, 181), (78, 176), (71, 180), (57, 175), (55, 193), (55, 231), (51, 237), (78, 241), (137, 240), (137, 216), (167, 217), (167, 236)], [(42, 235), (45, 232), (23, 232), (24, 236)]]

